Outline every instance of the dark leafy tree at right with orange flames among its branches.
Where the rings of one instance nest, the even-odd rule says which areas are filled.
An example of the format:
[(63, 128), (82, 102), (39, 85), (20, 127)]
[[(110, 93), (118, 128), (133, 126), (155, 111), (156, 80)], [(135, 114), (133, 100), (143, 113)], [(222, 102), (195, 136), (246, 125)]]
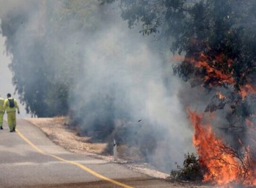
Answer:
[(203, 95), (212, 95), (205, 112), (219, 114), (221, 110), (224, 125), (220, 130), (232, 137), (232, 149), (237, 151), (242, 140), (251, 146), (255, 158), (255, 142), (248, 132), (255, 132), (256, 2), (118, 2), (129, 28), (139, 26), (143, 35), (164, 38), (173, 54), (184, 55), (181, 63), (173, 65), (174, 75), (191, 87), (203, 87)]

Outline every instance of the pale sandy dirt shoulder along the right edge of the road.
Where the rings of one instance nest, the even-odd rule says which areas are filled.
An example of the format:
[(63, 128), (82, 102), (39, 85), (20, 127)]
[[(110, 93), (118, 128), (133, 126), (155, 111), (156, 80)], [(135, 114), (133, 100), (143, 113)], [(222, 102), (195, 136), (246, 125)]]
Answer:
[[(151, 167), (147, 163), (134, 162), (125, 160), (124, 158), (119, 158), (117, 161), (114, 160), (113, 156), (107, 156), (102, 154), (106, 149), (108, 143), (92, 143), (90, 142), (90, 137), (79, 136), (78, 130), (68, 126), (69, 120), (65, 117), (58, 118), (25, 118), (34, 126), (40, 128), (50, 140), (55, 142), (55, 144), (69, 150), (70, 152), (75, 152), (79, 154), (86, 154), (93, 156), (94, 158), (101, 158), (111, 162), (117, 162), (123, 164), (133, 171), (149, 175), (150, 177), (158, 179), (168, 178), (168, 174), (162, 173)], [(119, 152), (119, 148), (117, 148)], [(121, 154), (122, 155), (122, 154)], [(205, 187), (200, 185), (195, 185), (193, 183), (177, 183), (178, 185), (183, 185), (183, 187)]]

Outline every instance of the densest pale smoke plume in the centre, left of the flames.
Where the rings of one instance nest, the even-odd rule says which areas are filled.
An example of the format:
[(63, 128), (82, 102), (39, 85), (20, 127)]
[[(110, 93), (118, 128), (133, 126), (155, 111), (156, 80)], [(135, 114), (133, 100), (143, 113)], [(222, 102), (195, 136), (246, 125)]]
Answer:
[[(182, 164), (184, 154), (193, 147), (192, 131), (178, 97), (181, 82), (172, 75), (168, 48), (160, 51), (164, 44), (156, 38), (129, 30), (115, 9), (111, 17), (115, 19), (102, 23), (104, 30), (86, 37), (90, 40), (84, 48), (85, 77), (77, 83), (75, 104), (85, 106), (83, 122), (91, 126), (96, 126), (102, 113), (109, 114), (109, 110), (113, 119), (129, 119), (135, 126), (139, 126), (138, 120), (141, 124), (146, 122), (143, 128), (156, 141), (156, 150), (148, 159), (170, 171), (176, 167), (175, 162)], [(100, 103), (105, 102), (102, 97), (106, 96), (113, 102), (102, 109)], [(91, 126), (85, 125), (84, 129)], [(139, 140), (136, 135), (128, 137)]]

